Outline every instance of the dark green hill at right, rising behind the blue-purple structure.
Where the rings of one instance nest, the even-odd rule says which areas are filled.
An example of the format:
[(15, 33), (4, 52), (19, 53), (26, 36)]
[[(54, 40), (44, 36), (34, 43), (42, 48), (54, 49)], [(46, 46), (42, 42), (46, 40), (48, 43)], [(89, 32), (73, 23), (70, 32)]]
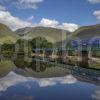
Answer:
[(83, 26), (72, 33), (72, 37), (78, 37), (80, 39), (91, 39), (94, 37), (100, 37), (100, 24), (92, 26)]

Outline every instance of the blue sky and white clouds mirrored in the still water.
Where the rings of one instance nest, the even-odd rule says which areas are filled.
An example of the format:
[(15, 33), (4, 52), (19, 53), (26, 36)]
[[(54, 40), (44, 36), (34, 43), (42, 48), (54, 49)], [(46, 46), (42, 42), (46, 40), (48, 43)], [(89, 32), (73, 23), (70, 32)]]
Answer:
[(32, 78), (10, 72), (0, 79), (0, 100), (99, 100), (94, 93), (96, 89), (73, 75)]

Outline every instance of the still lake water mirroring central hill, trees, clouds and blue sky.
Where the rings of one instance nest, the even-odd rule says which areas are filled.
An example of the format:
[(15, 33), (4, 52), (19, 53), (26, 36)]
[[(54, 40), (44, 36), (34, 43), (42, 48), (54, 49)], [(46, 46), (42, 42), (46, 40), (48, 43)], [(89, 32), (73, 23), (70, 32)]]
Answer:
[(0, 79), (0, 100), (100, 100), (100, 72), (32, 59)]

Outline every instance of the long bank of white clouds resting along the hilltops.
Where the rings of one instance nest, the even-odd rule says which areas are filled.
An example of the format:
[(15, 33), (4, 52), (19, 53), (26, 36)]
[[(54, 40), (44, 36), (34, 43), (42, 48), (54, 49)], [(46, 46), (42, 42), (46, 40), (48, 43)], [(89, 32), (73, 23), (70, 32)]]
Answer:
[(9, 26), (12, 30), (16, 30), (24, 27), (44, 26), (44, 27), (64, 29), (73, 32), (79, 27), (77, 24), (74, 23), (62, 23), (60, 25), (58, 21), (50, 20), (47, 18), (42, 18), (42, 20), (39, 23), (32, 23), (33, 19), (34, 16), (31, 16), (26, 21), (24, 21), (18, 17), (12, 16), (10, 12), (4, 9), (0, 10), (0, 23)]

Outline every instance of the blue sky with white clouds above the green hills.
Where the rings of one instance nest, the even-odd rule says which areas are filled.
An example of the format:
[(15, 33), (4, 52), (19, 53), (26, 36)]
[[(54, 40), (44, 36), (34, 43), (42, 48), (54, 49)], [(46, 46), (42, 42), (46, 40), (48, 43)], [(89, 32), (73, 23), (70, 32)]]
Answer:
[(44, 26), (73, 32), (100, 23), (100, 0), (0, 0), (0, 23), (12, 30)]

